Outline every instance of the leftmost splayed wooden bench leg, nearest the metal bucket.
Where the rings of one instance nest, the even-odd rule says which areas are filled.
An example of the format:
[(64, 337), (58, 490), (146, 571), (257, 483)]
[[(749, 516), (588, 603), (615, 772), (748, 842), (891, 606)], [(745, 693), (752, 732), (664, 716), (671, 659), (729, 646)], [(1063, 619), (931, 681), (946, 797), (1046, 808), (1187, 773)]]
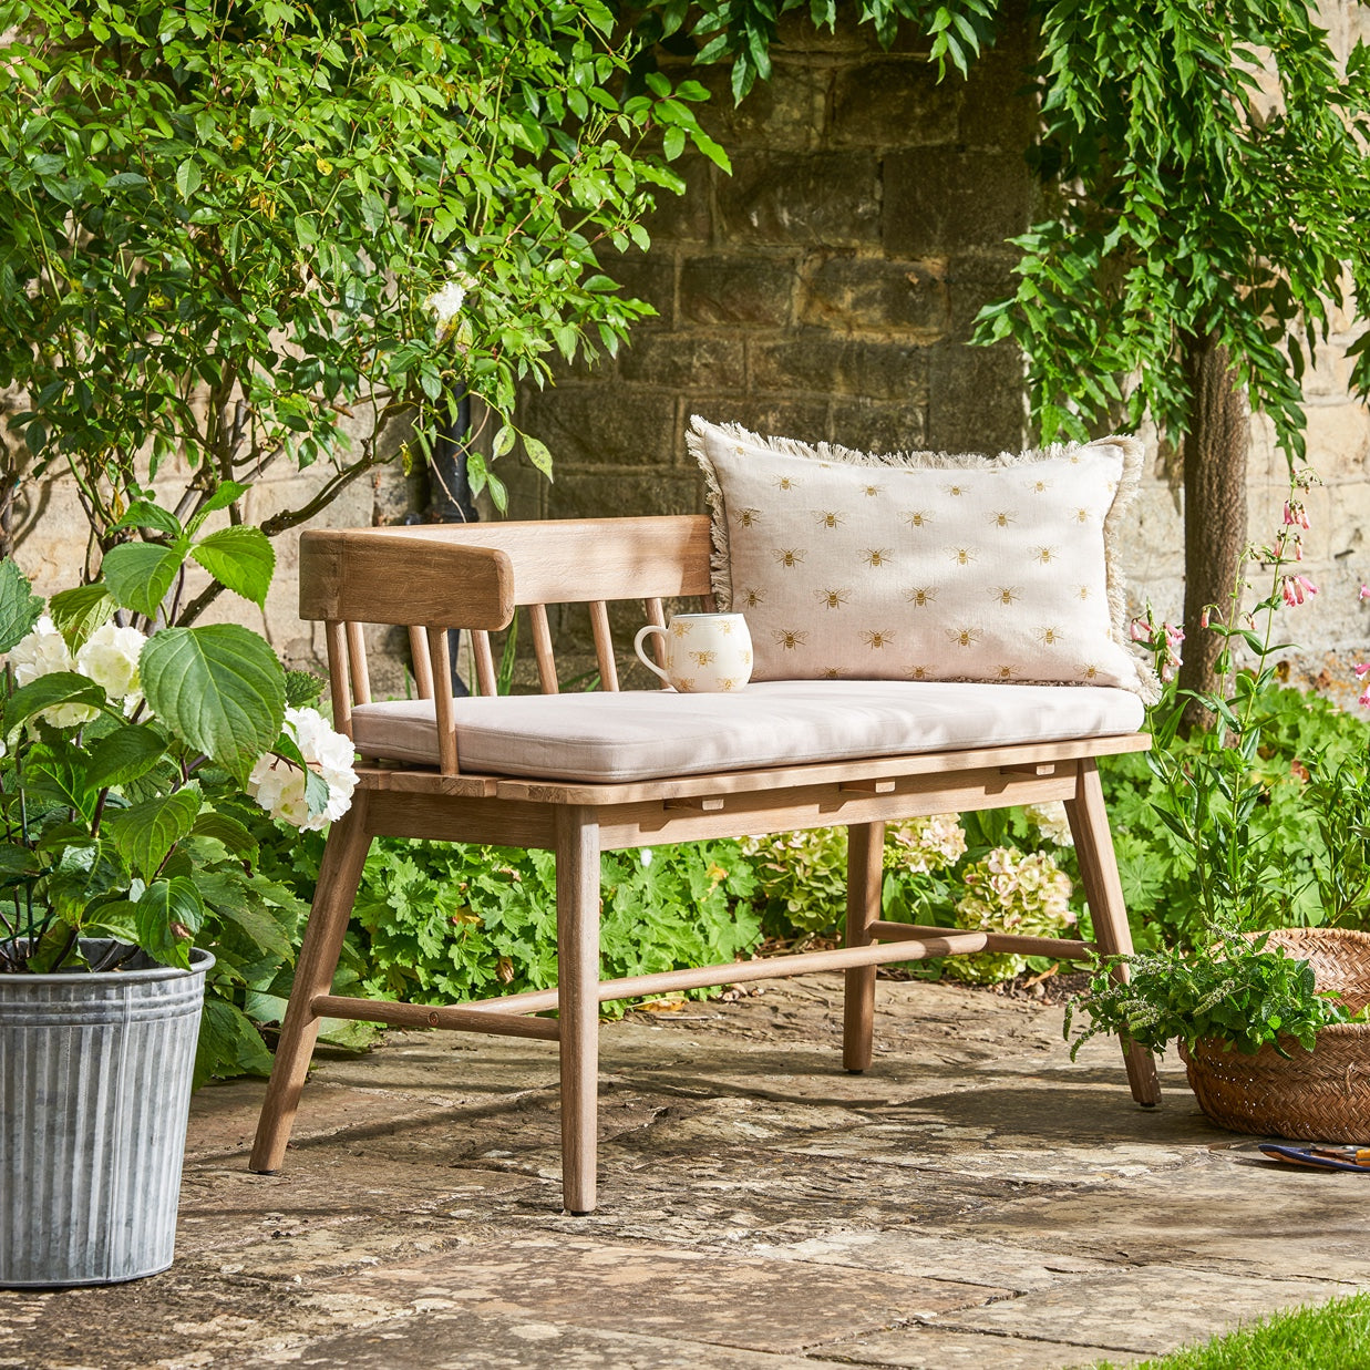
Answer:
[(279, 1170), (285, 1159), (290, 1126), (310, 1070), (310, 1056), (314, 1055), (314, 1043), (319, 1036), (319, 1019), (314, 1017), (311, 1004), (318, 995), (326, 995), (333, 988), (333, 973), (342, 954), (342, 937), (362, 882), (366, 854), (371, 848), (366, 808), (367, 792), (360, 789), (352, 799), (352, 807), (333, 825), (323, 848), (314, 907), (304, 929), (290, 1003), (285, 1010), (275, 1064), (266, 1086), (256, 1141), (248, 1160), (249, 1169), (259, 1174)]

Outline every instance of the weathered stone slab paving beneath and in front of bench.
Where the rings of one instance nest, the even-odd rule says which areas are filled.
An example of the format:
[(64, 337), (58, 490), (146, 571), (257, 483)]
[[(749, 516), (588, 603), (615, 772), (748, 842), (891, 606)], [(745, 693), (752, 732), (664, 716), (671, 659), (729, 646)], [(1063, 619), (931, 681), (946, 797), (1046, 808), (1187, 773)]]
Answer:
[(555, 1047), (395, 1033), (315, 1062), (277, 1175), (263, 1085), (193, 1101), (175, 1266), (0, 1302), (0, 1367), (1129, 1363), (1370, 1286), (1358, 1175), (1274, 1169), (1173, 1062), (1137, 1108), (1060, 1010), (840, 982), (603, 1030), (601, 1207), (560, 1212)]

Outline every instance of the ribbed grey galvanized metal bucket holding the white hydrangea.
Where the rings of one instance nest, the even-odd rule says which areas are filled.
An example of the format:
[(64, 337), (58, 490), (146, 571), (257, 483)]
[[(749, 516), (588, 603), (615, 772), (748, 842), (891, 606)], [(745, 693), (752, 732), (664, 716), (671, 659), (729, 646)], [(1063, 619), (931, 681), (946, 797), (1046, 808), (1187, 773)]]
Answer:
[[(96, 963), (108, 945), (82, 943)], [(171, 1265), (212, 964), (0, 975), (0, 1286)]]

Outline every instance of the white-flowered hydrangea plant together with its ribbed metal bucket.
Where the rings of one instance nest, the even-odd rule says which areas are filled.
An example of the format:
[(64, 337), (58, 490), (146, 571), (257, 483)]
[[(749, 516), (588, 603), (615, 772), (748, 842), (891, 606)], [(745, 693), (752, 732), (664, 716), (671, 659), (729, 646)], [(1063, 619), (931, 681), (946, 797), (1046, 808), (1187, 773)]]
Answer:
[(247, 627), (166, 626), (192, 566), (264, 599), (260, 530), (203, 527), (241, 493), (185, 527), (134, 504), (142, 538), (48, 604), (0, 562), (0, 1285), (170, 1263), (210, 948), (290, 951), (247, 819), (351, 803), (351, 744), (300, 707), (316, 681)]

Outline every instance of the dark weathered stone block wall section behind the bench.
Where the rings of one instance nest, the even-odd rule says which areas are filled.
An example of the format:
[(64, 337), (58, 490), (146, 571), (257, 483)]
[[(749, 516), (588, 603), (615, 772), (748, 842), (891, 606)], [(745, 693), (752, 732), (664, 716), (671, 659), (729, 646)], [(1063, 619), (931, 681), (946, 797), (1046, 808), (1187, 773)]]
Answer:
[(938, 82), (912, 41), (795, 21), (773, 62), (736, 108), (725, 73), (696, 73), (733, 174), (689, 162), (651, 251), (606, 262), (658, 314), (616, 359), (523, 397), (556, 460), (553, 485), (516, 481), (523, 515), (701, 510), (690, 414), (874, 451), (1021, 444), (1018, 356), (963, 345), (1033, 210), (1021, 53)]

